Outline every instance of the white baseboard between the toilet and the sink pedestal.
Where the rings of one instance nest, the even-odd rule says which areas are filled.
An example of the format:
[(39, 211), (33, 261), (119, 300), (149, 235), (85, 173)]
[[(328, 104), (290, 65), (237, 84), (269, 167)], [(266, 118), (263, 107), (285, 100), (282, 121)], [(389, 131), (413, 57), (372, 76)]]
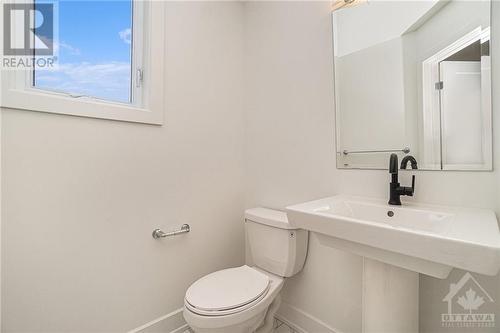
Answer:
[(299, 333), (342, 333), (309, 313), (283, 302), (276, 318)]

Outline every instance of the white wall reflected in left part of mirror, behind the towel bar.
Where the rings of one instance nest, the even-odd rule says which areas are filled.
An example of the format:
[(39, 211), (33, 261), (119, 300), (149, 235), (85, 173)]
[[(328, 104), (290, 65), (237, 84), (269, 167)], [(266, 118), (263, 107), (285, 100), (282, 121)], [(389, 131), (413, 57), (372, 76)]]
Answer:
[[(415, 148), (405, 126), (402, 42), (402, 38), (395, 38), (335, 57), (336, 121), (342, 129), (337, 135), (338, 152)], [(339, 166), (383, 168), (387, 164), (386, 158), (377, 154), (338, 157)]]

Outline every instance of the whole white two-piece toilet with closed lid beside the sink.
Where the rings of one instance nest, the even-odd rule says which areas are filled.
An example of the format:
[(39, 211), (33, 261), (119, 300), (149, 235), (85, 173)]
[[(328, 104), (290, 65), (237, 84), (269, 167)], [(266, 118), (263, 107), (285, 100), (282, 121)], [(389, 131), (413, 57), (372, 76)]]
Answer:
[(196, 333), (270, 333), (285, 278), (302, 270), (308, 232), (288, 223), (286, 213), (245, 211), (253, 266), (223, 269), (194, 282), (184, 298), (184, 319)]

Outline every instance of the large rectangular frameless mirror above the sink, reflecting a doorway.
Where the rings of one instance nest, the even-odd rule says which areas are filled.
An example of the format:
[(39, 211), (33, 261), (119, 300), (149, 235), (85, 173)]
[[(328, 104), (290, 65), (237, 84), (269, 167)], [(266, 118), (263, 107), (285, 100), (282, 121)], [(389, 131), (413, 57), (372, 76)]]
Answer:
[(332, 14), (337, 167), (387, 169), (396, 152), (492, 170), (491, 2), (358, 1)]

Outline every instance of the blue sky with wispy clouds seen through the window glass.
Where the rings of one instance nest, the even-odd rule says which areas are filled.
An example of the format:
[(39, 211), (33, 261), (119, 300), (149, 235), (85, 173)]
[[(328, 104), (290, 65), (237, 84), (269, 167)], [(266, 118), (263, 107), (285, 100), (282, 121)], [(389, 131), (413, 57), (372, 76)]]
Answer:
[(132, 1), (61, 0), (58, 9), (58, 67), (36, 71), (35, 87), (130, 102)]

